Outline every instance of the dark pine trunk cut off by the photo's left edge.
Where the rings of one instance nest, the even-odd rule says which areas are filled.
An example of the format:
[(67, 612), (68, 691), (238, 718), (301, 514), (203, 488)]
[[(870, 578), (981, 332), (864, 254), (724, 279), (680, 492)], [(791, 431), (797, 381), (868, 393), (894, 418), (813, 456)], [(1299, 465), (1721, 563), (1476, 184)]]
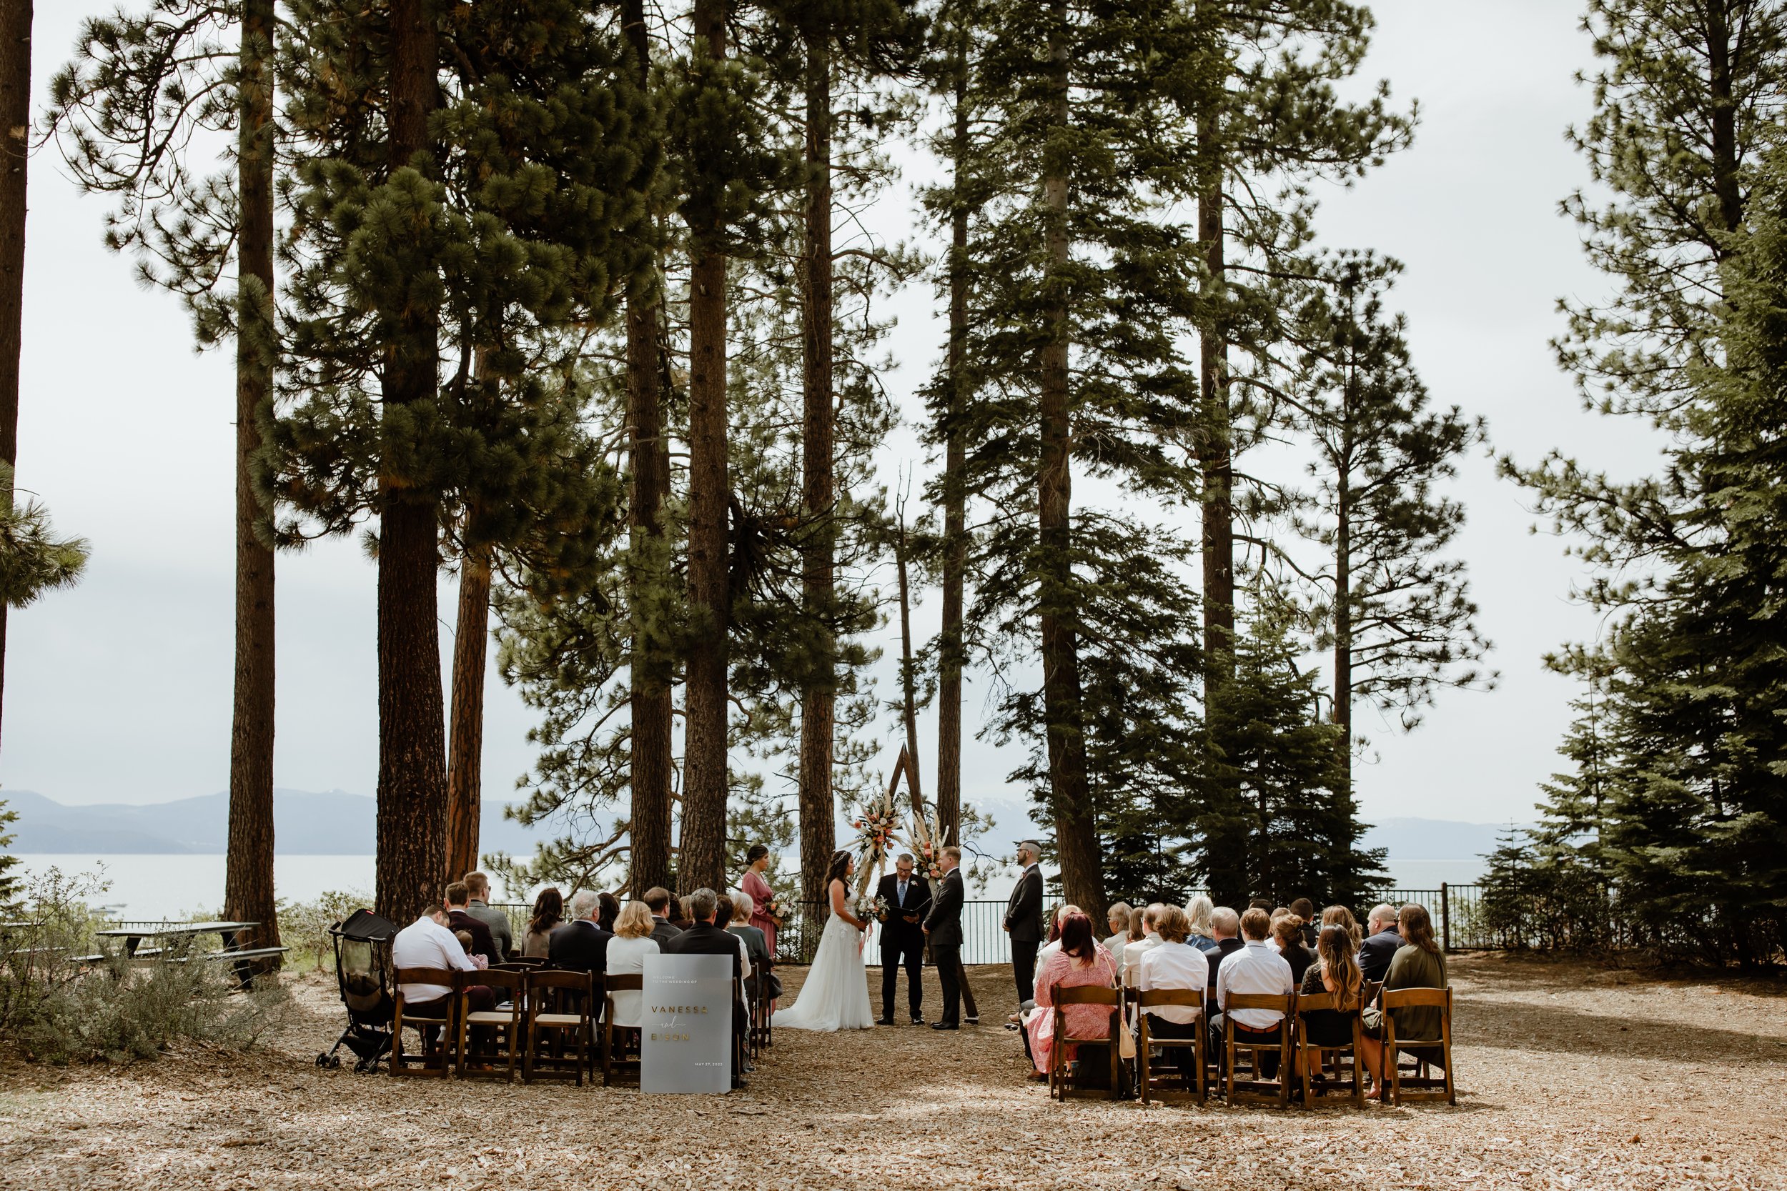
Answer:
[[(18, 462), (18, 355), (25, 316), (25, 162), (30, 152), (30, 0), (0, 0), (0, 459)], [(11, 496), (11, 493), (7, 493)], [(5, 696), (0, 600), (0, 702)]]

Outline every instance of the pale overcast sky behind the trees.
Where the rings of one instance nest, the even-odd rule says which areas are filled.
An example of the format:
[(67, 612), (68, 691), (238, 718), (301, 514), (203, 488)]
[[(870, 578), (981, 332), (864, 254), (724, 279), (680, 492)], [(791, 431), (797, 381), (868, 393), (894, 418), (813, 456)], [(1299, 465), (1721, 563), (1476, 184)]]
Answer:
[[(38, 5), (39, 96), (80, 16), (102, 7), (111, 5)], [(1560, 329), (1556, 300), (1605, 287), (1556, 212), (1583, 182), (1564, 141), (1589, 105), (1573, 82), (1589, 66), (1576, 5), (1374, 7), (1365, 75), (1387, 77), (1403, 104), (1419, 98), (1421, 129), (1412, 150), (1365, 182), (1324, 195), (1324, 243), (1406, 264), (1396, 304), (1408, 312), (1426, 384), (1437, 404), (1485, 416), (1496, 450), (1533, 461), (1560, 446), (1619, 473), (1651, 466), (1655, 443), (1639, 427), (1581, 412), (1548, 346)], [(218, 791), (229, 777), (232, 664), (231, 359), (195, 355), (177, 302), (139, 289), (130, 262), (104, 250), (105, 205), (77, 193), (54, 150), (32, 161), (30, 198), (18, 479), (50, 504), (59, 529), (91, 539), (93, 562), (79, 589), (11, 618), (0, 786), (63, 802)], [(876, 223), (901, 230), (902, 202), (890, 198)], [(936, 355), (929, 307), (927, 286), (897, 302), (902, 368), (888, 384), (911, 414), (910, 395)], [(906, 443), (897, 436), (888, 446), (890, 480)], [(1412, 736), (1362, 714), (1376, 752), (1358, 771), (1367, 820), (1528, 818), (1535, 784), (1556, 764), (1573, 695), (1540, 655), (1596, 632), (1569, 600), (1580, 566), (1556, 539), (1530, 536), (1523, 493), (1498, 480), (1487, 457), (1464, 464), (1455, 491), (1471, 518), (1458, 550), (1501, 686), (1446, 693)], [(281, 557), (279, 786), (373, 791), (373, 579), (352, 541)], [(920, 609), (922, 621), (935, 625), (935, 604)], [(441, 614), (450, 629), (445, 586)], [(970, 687), (970, 725), (983, 693)], [(491, 679), (486, 796), (529, 768), (529, 721)], [(929, 725), (922, 739), (935, 739)], [(969, 798), (1004, 796), (1015, 762), (970, 743)]]

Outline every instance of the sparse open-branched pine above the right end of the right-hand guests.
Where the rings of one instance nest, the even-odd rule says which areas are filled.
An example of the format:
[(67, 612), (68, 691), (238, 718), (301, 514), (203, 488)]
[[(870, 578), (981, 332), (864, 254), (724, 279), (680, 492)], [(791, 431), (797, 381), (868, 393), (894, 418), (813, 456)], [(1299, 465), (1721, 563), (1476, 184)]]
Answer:
[(1290, 330), (1299, 359), (1285, 404), (1315, 446), (1315, 491), (1296, 523), (1324, 555), (1310, 616), (1315, 645), (1333, 652), (1349, 789), (1355, 702), (1394, 712), (1406, 732), (1439, 687), (1494, 680), (1476, 670), (1489, 641), (1464, 559), (1444, 557), (1464, 505), (1435, 491), (1483, 425), (1456, 405), (1428, 409), (1403, 320), (1383, 305), (1397, 271), (1369, 254), (1322, 261)]

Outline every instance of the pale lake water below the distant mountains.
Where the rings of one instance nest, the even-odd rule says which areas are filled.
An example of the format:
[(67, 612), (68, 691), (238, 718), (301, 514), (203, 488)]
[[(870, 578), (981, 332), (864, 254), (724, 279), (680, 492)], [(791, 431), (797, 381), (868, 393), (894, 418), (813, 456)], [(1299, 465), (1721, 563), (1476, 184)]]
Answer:
[[(184, 918), (216, 912), (223, 905), (222, 855), (21, 855), (20, 868), (41, 873), (102, 873), (111, 887), (95, 904), (120, 918)], [(1481, 859), (1390, 861), (1399, 889), (1439, 889), (1440, 882), (1464, 886), (1483, 873)], [(18, 870), (14, 870), (18, 871)], [(997, 882), (995, 882), (997, 884)], [(275, 855), (273, 893), (288, 902), (309, 902), (323, 893), (361, 893), (372, 902), (373, 857), (370, 855)], [(525, 891), (518, 891), (522, 900)], [(986, 895), (979, 895), (986, 896)], [(499, 900), (508, 900), (499, 889)]]

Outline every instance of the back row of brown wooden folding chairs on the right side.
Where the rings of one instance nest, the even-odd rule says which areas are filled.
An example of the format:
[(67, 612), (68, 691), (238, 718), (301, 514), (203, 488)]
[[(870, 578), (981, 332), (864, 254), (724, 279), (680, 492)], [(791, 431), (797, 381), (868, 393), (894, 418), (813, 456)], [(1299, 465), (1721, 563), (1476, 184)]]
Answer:
[[(1451, 1057), (1451, 989), (1390, 989), (1380, 995), (1378, 986), (1367, 986), (1363, 1004), (1376, 1000), (1385, 1011), (1383, 1046), (1390, 1055), (1387, 1098), (1392, 1105), (1406, 1102), (1456, 1104), (1453, 1086)], [(1213, 1004), (1213, 998), (1212, 998)], [(1067, 1032), (1069, 1005), (1106, 1005), (1110, 1009), (1108, 1025), (1103, 1034), (1074, 1036)], [(1167, 1005), (1196, 1009), (1197, 1023), (1192, 1037), (1154, 1037), (1149, 1032), (1147, 1014), (1151, 1009)], [(1437, 1041), (1397, 1041), (1396, 1009), (1439, 1009), (1440, 1037)], [(1212, 1084), (1222, 1087), (1222, 1102), (1235, 1104), (1272, 1104), (1287, 1107), (1290, 1089), (1297, 1073), (1308, 1066), (1333, 1077), (1342, 1096), (1351, 1098), (1355, 1107), (1365, 1104), (1363, 1086), (1363, 1032), (1360, 1014), (1351, 1014), (1353, 1037), (1338, 1046), (1317, 1045), (1310, 1037), (1308, 1014), (1333, 1009), (1330, 993), (1313, 995), (1262, 995), (1229, 993), (1228, 1009), (1271, 1009), (1278, 1011), (1278, 1029), (1271, 1041), (1240, 1036), (1235, 1030), (1231, 1012), (1224, 1012), (1222, 1052), (1208, 1055), (1206, 1014), (1203, 989), (1115, 989), (1099, 986), (1063, 987), (1054, 993), (1054, 1046), (1049, 1052), (1049, 1095), (1058, 1100), (1067, 1096), (1120, 1095), (1120, 1034), (1129, 1029), (1129, 1011), (1135, 1011), (1137, 1062), (1135, 1079), (1144, 1104), (1154, 1100), (1174, 1102), (1192, 1100), (1206, 1104)], [(1103, 1045), (1110, 1052), (1108, 1084), (1104, 1089), (1088, 1089), (1086, 1071), (1081, 1068), (1076, 1077), (1067, 1059), (1065, 1043)], [(1178, 1062), (1156, 1062), (1154, 1052), (1192, 1052), (1190, 1068), (1183, 1059)], [(1406, 1052), (1406, 1055), (1405, 1055)], [(1276, 1055), (1278, 1077), (1267, 1079), (1267, 1055)], [(1162, 1055), (1165, 1059), (1165, 1055)], [(1405, 1059), (1410, 1062), (1405, 1064)], [(1439, 1068), (1435, 1075), (1433, 1068)], [(1187, 1086), (1188, 1084), (1188, 1086)], [(1324, 1093), (1315, 1086), (1305, 1089), (1303, 1104), (1313, 1107)]]

